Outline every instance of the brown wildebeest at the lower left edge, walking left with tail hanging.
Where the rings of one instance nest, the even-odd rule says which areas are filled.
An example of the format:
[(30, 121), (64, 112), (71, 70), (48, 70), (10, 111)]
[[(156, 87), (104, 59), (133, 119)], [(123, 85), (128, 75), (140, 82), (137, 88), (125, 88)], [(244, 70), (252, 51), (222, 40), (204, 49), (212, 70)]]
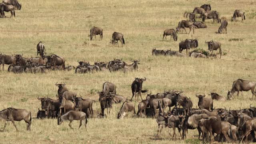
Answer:
[[(29, 116), (30, 116), (30, 119), (29, 119)], [(4, 129), (6, 128), (7, 122), (12, 121), (12, 124), (18, 131), (18, 128), (16, 127), (16, 124), (14, 121), (19, 122), (21, 120), (24, 120), (27, 123), (27, 130), (30, 130), (32, 117), (31, 117), (31, 112), (28, 112), (28, 110), (16, 109), (16, 108), (6, 108), (6, 109), (0, 111), (0, 117), (3, 120), (6, 120), (6, 122), (4, 124)], [(4, 131), (4, 129), (3, 129), (3, 131)]]

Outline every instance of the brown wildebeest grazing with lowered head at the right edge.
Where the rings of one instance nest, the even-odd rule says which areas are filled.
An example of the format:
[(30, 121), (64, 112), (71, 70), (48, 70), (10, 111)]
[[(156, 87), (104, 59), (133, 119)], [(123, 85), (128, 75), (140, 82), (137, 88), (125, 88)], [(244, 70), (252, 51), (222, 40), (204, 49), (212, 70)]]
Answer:
[(242, 91), (247, 92), (247, 91), (251, 90), (252, 91), (251, 100), (252, 100), (253, 96), (256, 96), (255, 86), (256, 86), (256, 82), (251, 82), (251, 81), (242, 80), (242, 79), (235, 80), (232, 84), (231, 91), (228, 91), (228, 99), (231, 100), (232, 96), (235, 92), (237, 92), (237, 96), (239, 96), (239, 92), (241, 92), (241, 94), (242, 94)]

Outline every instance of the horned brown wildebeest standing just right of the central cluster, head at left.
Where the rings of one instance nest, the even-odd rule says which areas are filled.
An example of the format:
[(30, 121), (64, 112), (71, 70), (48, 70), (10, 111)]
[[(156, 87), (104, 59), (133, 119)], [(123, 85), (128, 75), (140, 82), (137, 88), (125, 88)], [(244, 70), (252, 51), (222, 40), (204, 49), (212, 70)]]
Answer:
[(213, 110), (213, 101), (211, 98), (204, 98), (204, 95), (197, 95), (196, 97), (199, 99), (198, 100), (198, 107), (199, 108), (205, 108), (206, 110)]

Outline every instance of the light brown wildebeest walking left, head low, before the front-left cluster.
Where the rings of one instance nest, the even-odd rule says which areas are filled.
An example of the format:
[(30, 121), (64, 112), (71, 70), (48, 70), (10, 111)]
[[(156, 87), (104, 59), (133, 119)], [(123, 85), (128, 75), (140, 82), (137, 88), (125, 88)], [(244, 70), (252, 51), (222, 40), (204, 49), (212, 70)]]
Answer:
[(80, 120), (79, 128), (82, 126), (82, 122), (84, 122), (84, 126), (87, 131), (87, 126), (86, 126), (88, 122), (87, 116), (84, 112), (80, 112), (80, 111), (70, 110), (66, 114), (63, 114), (62, 116), (58, 116), (58, 125), (62, 124), (63, 121), (69, 121), (68, 126), (71, 129), (74, 129), (72, 128), (72, 125), (71, 125), (73, 120)]

